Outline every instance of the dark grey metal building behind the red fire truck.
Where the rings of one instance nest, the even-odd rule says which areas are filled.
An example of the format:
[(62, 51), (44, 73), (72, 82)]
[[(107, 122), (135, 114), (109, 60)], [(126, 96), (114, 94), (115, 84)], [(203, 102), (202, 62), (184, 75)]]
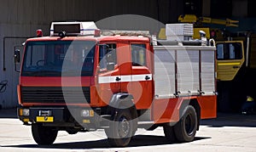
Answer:
[[(18, 105), (14, 50), (42, 29), (49, 35), (52, 21), (90, 20), (103, 29), (149, 30), (156, 34), (162, 23), (177, 22), (180, 14), (238, 17), (237, 28), (256, 31), (253, 0), (2, 0), (0, 5), (0, 109)], [(130, 15), (123, 15), (130, 14)], [(137, 15), (131, 15), (137, 14)], [(118, 16), (115, 16), (118, 15)], [(158, 22), (157, 20), (160, 20)], [(7, 86), (3, 87), (2, 83)]]

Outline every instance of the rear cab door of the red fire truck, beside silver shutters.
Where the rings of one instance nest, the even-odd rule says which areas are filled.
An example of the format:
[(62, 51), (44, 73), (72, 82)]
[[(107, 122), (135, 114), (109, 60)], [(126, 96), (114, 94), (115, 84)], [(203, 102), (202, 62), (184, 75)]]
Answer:
[(131, 85), (137, 109), (146, 110), (153, 99), (152, 53), (148, 42), (131, 42)]

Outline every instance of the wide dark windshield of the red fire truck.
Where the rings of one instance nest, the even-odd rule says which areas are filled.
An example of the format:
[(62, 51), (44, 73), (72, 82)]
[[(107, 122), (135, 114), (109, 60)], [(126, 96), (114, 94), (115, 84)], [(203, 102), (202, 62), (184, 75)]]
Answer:
[[(46, 67), (46, 64), (44, 63), (44, 68), (43, 66), (41, 66), (41, 68), (39, 68), (39, 66), (34, 64), (34, 69), (32, 69), (31, 67), (28, 67), (26, 62), (32, 62), (32, 61), (28, 61), (28, 60), (32, 60), (34, 57), (32, 57), (32, 53), (37, 51), (35, 50), (33, 47), (35, 46), (39, 46), (42, 47), (42, 53), (44, 53), (44, 55), (42, 55), (42, 58), (44, 58), (44, 62), (47, 59), (47, 53), (52, 54), (52, 56), (54, 57), (49, 57), (48, 58), (55, 58), (56, 55), (55, 54), (55, 48), (57, 45), (63, 47), (63, 53), (62, 53), (62, 60), (61, 60), (61, 65), (57, 65), (54, 68), (51, 67)], [(74, 47), (85, 47), (88, 46), (87, 49), (84, 48), (82, 51), (83, 53), (83, 59), (80, 59), (82, 62), (80, 65), (75, 66), (78, 67), (76, 70), (74, 70), (73, 68), (68, 70), (67, 69), (67, 65), (69, 65), (67, 63), (67, 59), (71, 58), (70, 57), (70, 49), (71, 46)], [(78, 46), (80, 45), (80, 46)], [(49, 48), (53, 48), (53, 49), (49, 49)], [(31, 50), (29, 50), (31, 49)], [(81, 51), (76, 51), (78, 53), (81, 53)], [(31, 54), (29, 54), (31, 53)], [(40, 51), (38, 50), (37, 53), (40, 53)], [(64, 55), (63, 55), (64, 54)], [(86, 54), (86, 55), (84, 55)], [(59, 54), (60, 55), (60, 54)], [(26, 42), (26, 46), (25, 46), (25, 53), (23, 55), (24, 59), (22, 62), (22, 67), (21, 67), (21, 73), (20, 76), (93, 76), (94, 74), (94, 69), (95, 69), (95, 64), (96, 64), (96, 60), (95, 60), (95, 55), (96, 55), (96, 41), (92, 41), (92, 40), (65, 40), (65, 41), (50, 41), (50, 40), (44, 40), (44, 41), (28, 41)], [(44, 56), (44, 57), (43, 57)], [(79, 56), (81, 57), (81, 55)], [(86, 59), (91, 59), (90, 61), (90, 66), (85, 66), (85, 60)], [(38, 57), (39, 59), (39, 57)], [(55, 61), (55, 59), (53, 59), (53, 61)], [(29, 63), (31, 64), (31, 63)], [(43, 63), (41, 63), (43, 64)], [(88, 70), (85, 70), (84, 68), (87, 68)]]

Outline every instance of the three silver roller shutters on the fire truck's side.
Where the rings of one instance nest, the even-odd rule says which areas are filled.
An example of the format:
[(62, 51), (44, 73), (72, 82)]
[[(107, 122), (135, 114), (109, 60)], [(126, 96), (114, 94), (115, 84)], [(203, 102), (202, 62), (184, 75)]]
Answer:
[(154, 46), (156, 99), (215, 93), (215, 47)]

